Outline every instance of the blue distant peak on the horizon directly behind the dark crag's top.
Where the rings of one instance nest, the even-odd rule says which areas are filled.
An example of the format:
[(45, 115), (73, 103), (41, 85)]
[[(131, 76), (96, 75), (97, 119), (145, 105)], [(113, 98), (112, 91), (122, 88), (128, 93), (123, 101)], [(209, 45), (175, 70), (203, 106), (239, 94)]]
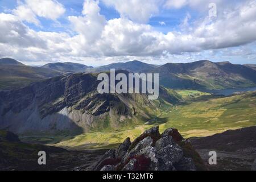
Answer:
[(126, 63), (113, 63), (109, 65), (104, 65), (102, 67), (92, 69), (91, 72), (93, 71), (105, 72), (105, 71), (110, 71), (110, 69), (123, 69), (133, 73), (142, 73), (142, 72), (148, 72), (154, 68), (157, 68), (157, 66), (152, 64), (142, 63), (141, 61), (129, 61)]

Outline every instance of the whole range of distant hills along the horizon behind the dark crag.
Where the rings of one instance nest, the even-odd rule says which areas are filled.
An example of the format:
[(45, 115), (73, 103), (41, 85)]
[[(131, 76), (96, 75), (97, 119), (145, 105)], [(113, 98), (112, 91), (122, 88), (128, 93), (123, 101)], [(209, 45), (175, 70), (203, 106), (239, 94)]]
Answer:
[[(13, 59), (0, 59), (0, 89), (18, 88), (32, 81), (68, 73), (99, 73), (122, 69), (134, 73), (159, 73), (160, 85), (171, 89), (228, 89), (256, 86), (256, 67), (208, 60), (193, 63), (167, 63), (162, 66), (129, 61), (101, 67), (76, 63), (51, 63), (28, 67)], [(16, 81), (15, 81), (16, 79)]]

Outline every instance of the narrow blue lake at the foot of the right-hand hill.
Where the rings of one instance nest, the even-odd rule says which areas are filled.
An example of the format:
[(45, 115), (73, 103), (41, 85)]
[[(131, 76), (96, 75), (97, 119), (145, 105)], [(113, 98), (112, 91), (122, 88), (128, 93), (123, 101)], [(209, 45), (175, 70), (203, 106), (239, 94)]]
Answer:
[(256, 87), (237, 88), (237, 89), (222, 89), (222, 90), (200, 90), (200, 91), (212, 93), (214, 95), (230, 96), (235, 92), (248, 92), (248, 91), (255, 91), (255, 90), (256, 90)]

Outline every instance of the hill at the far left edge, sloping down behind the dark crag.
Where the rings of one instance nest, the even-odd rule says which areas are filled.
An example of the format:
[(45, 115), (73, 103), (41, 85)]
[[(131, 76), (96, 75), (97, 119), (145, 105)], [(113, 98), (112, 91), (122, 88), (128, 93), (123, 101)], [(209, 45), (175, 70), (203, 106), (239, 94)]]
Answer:
[(40, 67), (28, 67), (14, 59), (0, 59), (0, 90), (16, 89), (34, 81), (62, 75)]

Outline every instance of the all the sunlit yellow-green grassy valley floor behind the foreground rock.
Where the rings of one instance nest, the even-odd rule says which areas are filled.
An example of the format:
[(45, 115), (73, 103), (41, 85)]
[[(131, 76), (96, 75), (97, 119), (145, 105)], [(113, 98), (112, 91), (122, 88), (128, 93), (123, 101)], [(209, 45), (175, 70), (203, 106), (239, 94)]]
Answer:
[[(160, 125), (161, 132), (176, 127), (185, 138), (189, 138), (256, 125), (256, 92), (224, 98), (212, 98), (207, 93), (190, 90), (180, 90), (179, 93), (188, 102), (169, 106), (159, 114), (159, 118), (152, 125)], [(193, 102), (190, 102), (191, 94), (201, 96), (193, 97)], [(209, 100), (205, 100), (205, 95)], [(127, 137), (135, 139), (152, 125), (139, 125), (118, 131), (95, 131), (64, 139), (57, 146), (77, 149), (115, 147)]]

